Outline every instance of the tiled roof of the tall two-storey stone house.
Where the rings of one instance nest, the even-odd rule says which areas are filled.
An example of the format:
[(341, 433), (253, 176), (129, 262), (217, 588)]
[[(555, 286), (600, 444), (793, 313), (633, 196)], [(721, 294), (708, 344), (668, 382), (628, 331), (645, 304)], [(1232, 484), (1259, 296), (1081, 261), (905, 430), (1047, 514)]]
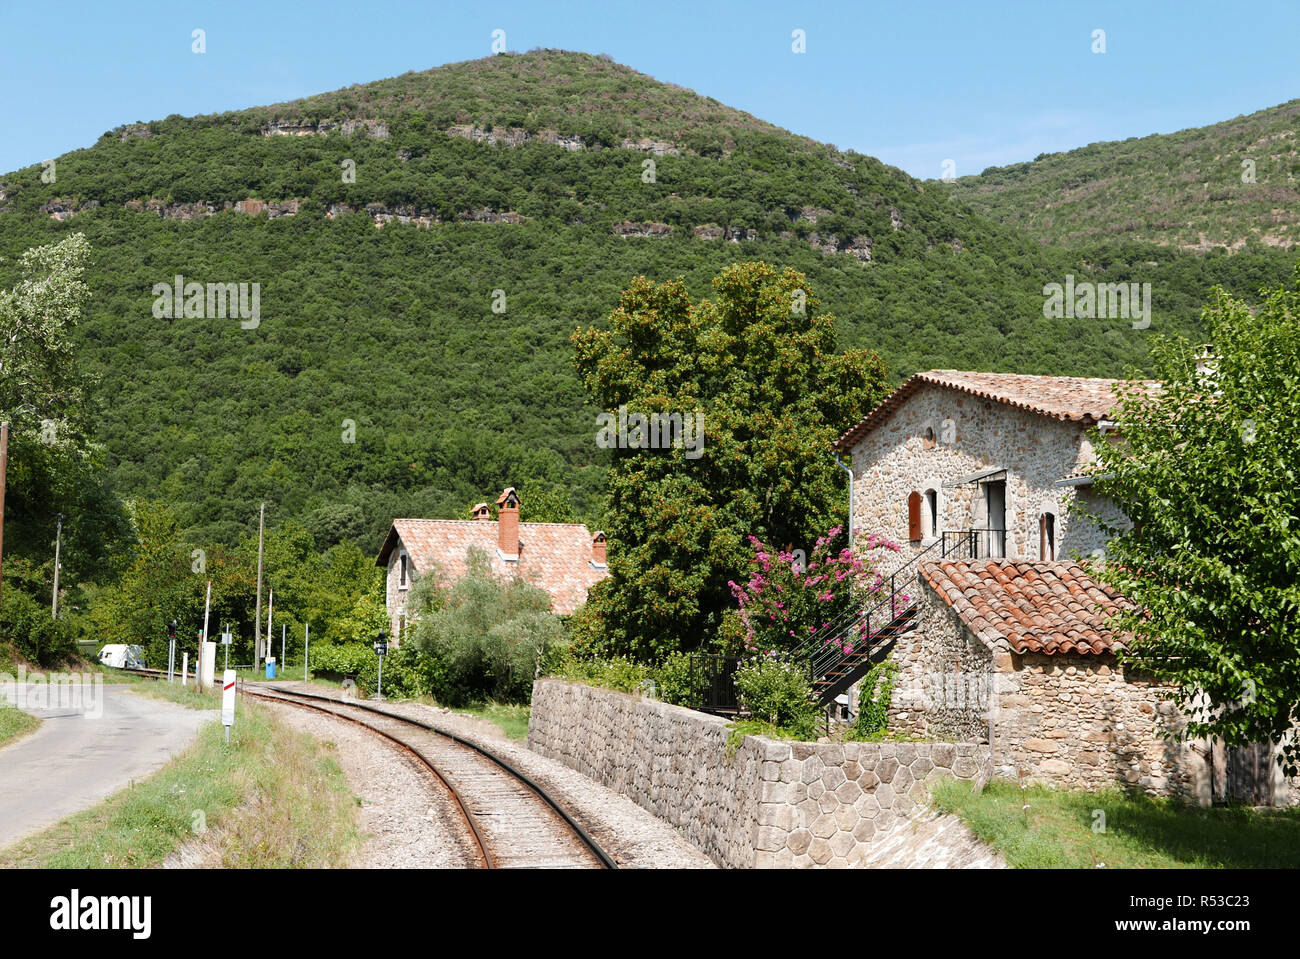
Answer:
[[(1106, 418), (1115, 407), (1113, 387), (1123, 379), (1096, 379), (1092, 377), (1031, 377), (1020, 373), (970, 373), (956, 369), (932, 369), (916, 373), (889, 394), (857, 426), (836, 442), (837, 450), (849, 450), (867, 433), (880, 425), (922, 386), (944, 386), (972, 396), (1005, 403), (1053, 420), (1072, 420), (1086, 425)], [(1143, 381), (1147, 389), (1156, 389), (1156, 381)]]

